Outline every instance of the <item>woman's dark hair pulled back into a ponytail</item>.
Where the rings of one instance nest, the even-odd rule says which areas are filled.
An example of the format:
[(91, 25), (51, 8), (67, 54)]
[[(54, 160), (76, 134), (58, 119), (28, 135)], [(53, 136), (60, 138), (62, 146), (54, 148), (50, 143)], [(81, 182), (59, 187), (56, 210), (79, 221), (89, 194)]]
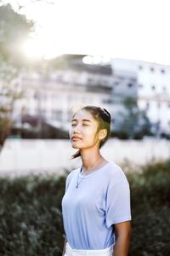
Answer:
[[(99, 143), (99, 148), (101, 148), (106, 141), (108, 140), (108, 138), (110, 137), (111, 134), (111, 114), (105, 109), (105, 108), (99, 108), (96, 106), (85, 106), (83, 108), (80, 108), (77, 112), (79, 112), (80, 110), (86, 110), (89, 113), (91, 113), (94, 117), (94, 119), (96, 119), (99, 123), (97, 132), (99, 132), (99, 130), (101, 129), (106, 129), (107, 130), (107, 135), (104, 139), (102, 139)], [(76, 112), (76, 113), (77, 113)], [(75, 114), (73, 114), (73, 117), (75, 116)], [(81, 151), (80, 149), (71, 156), (71, 159), (75, 159), (78, 156), (81, 156)]]

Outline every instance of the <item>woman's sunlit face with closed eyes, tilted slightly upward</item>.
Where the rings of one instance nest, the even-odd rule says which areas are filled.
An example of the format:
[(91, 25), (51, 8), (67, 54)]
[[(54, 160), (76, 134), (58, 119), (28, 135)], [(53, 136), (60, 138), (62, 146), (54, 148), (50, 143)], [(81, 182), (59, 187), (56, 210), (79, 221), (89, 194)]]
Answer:
[(86, 110), (78, 111), (71, 120), (69, 136), (72, 148), (92, 148), (99, 143), (99, 123)]

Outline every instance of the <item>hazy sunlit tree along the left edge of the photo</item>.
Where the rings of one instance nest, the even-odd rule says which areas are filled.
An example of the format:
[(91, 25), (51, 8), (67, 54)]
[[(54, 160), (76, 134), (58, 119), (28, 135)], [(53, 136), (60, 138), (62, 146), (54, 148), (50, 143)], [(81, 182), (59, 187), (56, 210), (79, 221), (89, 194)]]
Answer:
[(14, 102), (23, 96), (20, 88), (20, 72), (26, 67), (21, 45), (33, 28), (9, 4), (0, 6), (0, 151), (8, 136)]

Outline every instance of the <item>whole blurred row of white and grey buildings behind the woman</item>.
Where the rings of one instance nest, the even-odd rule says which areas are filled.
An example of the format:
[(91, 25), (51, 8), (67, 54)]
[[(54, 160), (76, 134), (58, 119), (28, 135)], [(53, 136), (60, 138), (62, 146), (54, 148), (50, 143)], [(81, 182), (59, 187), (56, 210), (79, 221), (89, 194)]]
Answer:
[(71, 113), (90, 104), (108, 109), (111, 129), (116, 130), (116, 124), (122, 122), (122, 113), (127, 111), (123, 101), (130, 96), (139, 109), (146, 111), (156, 134), (169, 133), (169, 66), (123, 59), (90, 63), (83, 61), (85, 57), (65, 55), (66, 67), (48, 75), (22, 73), (20, 84), (26, 97), (14, 105), (16, 123), (20, 125), (22, 116), (27, 114), (37, 118), (40, 125), (43, 120), (67, 131)]

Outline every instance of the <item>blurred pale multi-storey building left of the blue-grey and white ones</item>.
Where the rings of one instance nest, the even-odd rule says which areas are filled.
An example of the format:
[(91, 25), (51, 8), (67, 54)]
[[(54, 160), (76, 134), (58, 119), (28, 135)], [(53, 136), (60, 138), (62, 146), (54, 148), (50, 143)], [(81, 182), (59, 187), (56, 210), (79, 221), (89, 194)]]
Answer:
[(25, 73), (20, 80), (26, 97), (14, 105), (13, 117), (18, 124), (21, 115), (28, 114), (42, 117), (48, 124), (68, 130), (71, 112), (84, 105), (100, 106), (111, 112), (111, 66), (94, 67), (78, 60), (71, 67), (57, 70), (48, 77)]

